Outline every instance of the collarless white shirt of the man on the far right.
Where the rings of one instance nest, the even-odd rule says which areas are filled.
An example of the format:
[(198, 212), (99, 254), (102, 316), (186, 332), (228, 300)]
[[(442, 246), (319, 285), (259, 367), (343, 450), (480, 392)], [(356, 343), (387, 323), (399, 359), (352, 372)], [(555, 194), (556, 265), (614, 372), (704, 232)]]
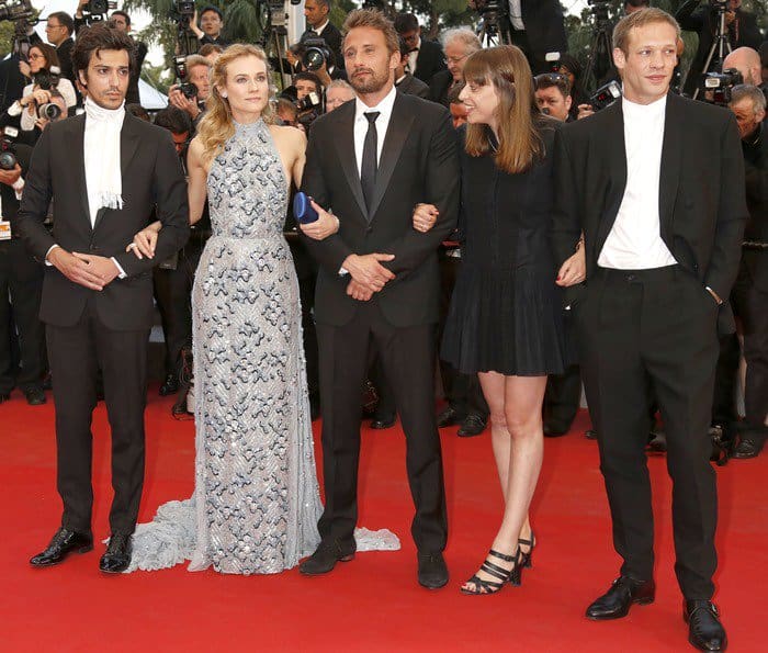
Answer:
[(647, 270), (677, 263), (662, 239), (658, 188), (667, 97), (651, 104), (621, 100), (624, 114), (626, 187), (598, 266)]

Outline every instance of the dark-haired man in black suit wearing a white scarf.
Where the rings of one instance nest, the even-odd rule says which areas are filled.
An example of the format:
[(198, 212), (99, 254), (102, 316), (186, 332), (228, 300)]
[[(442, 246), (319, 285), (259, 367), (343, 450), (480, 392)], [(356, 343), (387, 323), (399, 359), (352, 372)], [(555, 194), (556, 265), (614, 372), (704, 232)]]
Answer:
[[(13, 224), (46, 262), (41, 318), (47, 325), (56, 404), (61, 527), (31, 563), (61, 562), (93, 547), (91, 417), (103, 375), (112, 427), (112, 537), (99, 566), (131, 562), (131, 537), (144, 483), (147, 341), (153, 324), (151, 268), (189, 235), (187, 184), (165, 130), (123, 109), (133, 41), (103, 24), (82, 30), (74, 50), (88, 89), (86, 114), (49, 125), (35, 148)], [(54, 229), (43, 221), (54, 202)], [(150, 222), (163, 228), (156, 259), (126, 246)]]

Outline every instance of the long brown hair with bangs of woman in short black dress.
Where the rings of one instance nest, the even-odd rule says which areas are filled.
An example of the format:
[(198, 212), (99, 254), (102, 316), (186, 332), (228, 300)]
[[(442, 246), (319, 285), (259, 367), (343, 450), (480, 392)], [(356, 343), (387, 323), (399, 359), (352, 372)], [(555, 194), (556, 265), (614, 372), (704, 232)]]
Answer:
[[(505, 172), (528, 170), (544, 156), (539, 135), (541, 112), (533, 92), (533, 76), (526, 55), (513, 45), (499, 45), (473, 53), (464, 66), (467, 85), (494, 85), (498, 94), (498, 137), (496, 165)], [(479, 157), (492, 150), (488, 128), (467, 124), (466, 154)]]

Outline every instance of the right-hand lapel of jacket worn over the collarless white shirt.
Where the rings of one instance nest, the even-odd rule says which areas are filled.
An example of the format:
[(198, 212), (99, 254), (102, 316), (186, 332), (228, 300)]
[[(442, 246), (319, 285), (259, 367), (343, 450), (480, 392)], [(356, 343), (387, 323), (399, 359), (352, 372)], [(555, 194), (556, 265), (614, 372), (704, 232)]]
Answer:
[(680, 134), (685, 130), (679, 98), (674, 93), (667, 95), (667, 106), (664, 115), (664, 143), (662, 145), (662, 168), (658, 180), (658, 216), (660, 234), (667, 247), (671, 249), (673, 215), (675, 199), (682, 166), (682, 142)]

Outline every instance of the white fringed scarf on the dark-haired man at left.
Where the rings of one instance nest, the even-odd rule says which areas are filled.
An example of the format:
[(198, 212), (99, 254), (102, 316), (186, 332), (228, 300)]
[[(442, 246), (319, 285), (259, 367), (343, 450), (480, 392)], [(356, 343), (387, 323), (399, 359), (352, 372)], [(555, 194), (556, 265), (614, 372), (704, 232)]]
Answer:
[(120, 109), (104, 109), (86, 98), (83, 158), (91, 223), (101, 207), (123, 207), (120, 132), (124, 119), (124, 104), (121, 104)]

